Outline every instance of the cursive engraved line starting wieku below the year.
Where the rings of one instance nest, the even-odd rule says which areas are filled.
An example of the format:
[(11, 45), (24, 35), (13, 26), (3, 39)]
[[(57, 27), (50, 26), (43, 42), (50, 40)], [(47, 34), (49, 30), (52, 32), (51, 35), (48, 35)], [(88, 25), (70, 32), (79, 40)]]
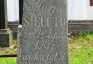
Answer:
[(63, 58), (65, 57), (65, 53), (63, 52), (56, 52), (55, 54), (50, 53), (46, 53), (46, 55), (40, 54), (39, 52), (37, 52), (36, 54), (32, 54), (31, 55), (23, 55), (22, 56), (22, 60), (26, 61), (26, 60), (40, 60), (40, 61), (46, 61), (46, 60), (51, 60), (51, 61), (62, 61)]

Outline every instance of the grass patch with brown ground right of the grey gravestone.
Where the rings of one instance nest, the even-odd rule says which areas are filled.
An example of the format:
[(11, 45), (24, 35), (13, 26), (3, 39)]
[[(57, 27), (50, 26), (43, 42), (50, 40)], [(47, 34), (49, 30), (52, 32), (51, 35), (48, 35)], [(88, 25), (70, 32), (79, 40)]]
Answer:
[(93, 33), (69, 37), (69, 64), (93, 64)]

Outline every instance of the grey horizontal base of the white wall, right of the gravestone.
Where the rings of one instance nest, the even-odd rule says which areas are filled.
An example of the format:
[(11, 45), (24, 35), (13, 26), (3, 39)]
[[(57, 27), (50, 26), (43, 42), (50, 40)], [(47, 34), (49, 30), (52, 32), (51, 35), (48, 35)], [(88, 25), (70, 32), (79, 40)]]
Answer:
[(69, 20), (68, 32), (93, 32), (93, 20)]

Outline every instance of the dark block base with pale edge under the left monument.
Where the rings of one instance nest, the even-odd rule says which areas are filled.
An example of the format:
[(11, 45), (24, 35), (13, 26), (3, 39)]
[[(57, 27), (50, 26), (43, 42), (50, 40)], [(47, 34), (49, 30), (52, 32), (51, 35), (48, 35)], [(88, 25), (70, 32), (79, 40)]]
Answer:
[(0, 47), (9, 47), (12, 44), (12, 31), (8, 29), (0, 29)]

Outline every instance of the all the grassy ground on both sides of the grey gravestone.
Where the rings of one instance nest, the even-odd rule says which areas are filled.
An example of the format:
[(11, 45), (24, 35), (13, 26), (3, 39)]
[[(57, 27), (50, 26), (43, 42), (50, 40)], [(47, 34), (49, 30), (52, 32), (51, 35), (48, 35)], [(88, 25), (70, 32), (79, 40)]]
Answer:
[[(0, 49), (0, 54), (15, 54), (16, 39), (10, 48)], [(79, 33), (68, 37), (69, 64), (93, 64), (93, 33)], [(0, 64), (16, 64), (16, 58), (0, 58)]]

